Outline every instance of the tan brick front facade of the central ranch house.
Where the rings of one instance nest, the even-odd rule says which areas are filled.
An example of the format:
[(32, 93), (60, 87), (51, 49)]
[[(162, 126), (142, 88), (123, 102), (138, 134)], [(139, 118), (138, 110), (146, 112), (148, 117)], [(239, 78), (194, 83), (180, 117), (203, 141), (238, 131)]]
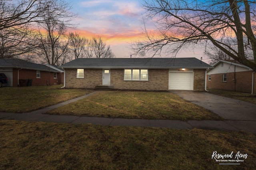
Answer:
[[(65, 69), (67, 88), (95, 88), (102, 85), (102, 69), (84, 69), (84, 78), (76, 78), (77, 69)], [(194, 69), (194, 90), (204, 90), (205, 70)], [(169, 69), (148, 69), (148, 81), (124, 80), (124, 69), (110, 69), (114, 89), (168, 90)]]

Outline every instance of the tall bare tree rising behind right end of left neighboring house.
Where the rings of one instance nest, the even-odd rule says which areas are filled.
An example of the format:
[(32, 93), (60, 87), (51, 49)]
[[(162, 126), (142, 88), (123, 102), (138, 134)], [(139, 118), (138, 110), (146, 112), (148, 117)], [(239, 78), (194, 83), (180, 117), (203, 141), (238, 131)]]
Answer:
[[(76, 16), (69, 10), (71, 7), (68, 3), (61, 0), (49, 0), (48, 6), (44, 11), (45, 15), (42, 17), (43, 22), (38, 23), (41, 55), (44, 63), (48, 64), (63, 64), (67, 57), (65, 53), (68, 51), (68, 41), (65, 33), (67, 27), (74, 26), (70, 21)], [(42, 53), (41, 53), (42, 54)]]

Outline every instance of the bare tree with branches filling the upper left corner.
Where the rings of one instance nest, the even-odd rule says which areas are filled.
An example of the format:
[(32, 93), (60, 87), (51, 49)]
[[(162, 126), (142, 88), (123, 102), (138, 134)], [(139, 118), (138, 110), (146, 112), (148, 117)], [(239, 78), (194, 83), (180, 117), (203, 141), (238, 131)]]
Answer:
[(0, 1), (0, 58), (20, 57), (38, 47), (32, 23), (41, 22), (45, 0)]

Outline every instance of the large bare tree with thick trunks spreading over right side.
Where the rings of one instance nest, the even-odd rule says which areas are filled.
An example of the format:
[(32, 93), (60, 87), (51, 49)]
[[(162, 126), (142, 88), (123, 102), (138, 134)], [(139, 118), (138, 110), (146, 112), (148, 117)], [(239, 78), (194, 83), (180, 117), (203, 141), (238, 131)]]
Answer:
[[(175, 56), (182, 48), (213, 44), (256, 70), (255, 0), (144, 0), (143, 8), (147, 10), (145, 19), (156, 24), (156, 33), (145, 27), (146, 40), (133, 43), (135, 55), (150, 51), (156, 55), (164, 50)], [(236, 44), (225, 44), (223, 40), (228, 38), (235, 38)], [(246, 48), (252, 49), (254, 62), (246, 59)]]

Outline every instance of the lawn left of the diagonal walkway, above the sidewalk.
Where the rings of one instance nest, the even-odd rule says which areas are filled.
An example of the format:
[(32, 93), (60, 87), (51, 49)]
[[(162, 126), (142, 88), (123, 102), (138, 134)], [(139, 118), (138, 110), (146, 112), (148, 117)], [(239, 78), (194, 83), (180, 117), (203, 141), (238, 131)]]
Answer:
[(81, 89), (60, 89), (62, 86), (0, 88), (0, 112), (26, 113), (92, 92)]

